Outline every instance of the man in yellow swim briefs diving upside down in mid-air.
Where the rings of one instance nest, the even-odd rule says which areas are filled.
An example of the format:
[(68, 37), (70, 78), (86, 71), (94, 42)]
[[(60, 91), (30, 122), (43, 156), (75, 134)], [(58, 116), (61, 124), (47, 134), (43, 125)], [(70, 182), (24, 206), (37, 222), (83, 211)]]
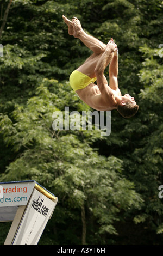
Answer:
[[(85, 46), (93, 51), (83, 65), (70, 75), (70, 85), (74, 92), (87, 105), (98, 111), (117, 109), (122, 117), (135, 115), (139, 106), (129, 94), (122, 96), (118, 88), (118, 48), (111, 38), (108, 44), (88, 35), (80, 21), (73, 17), (72, 21), (62, 16), (68, 26), (68, 34), (80, 39)], [(110, 63), (110, 65), (109, 65)], [(109, 85), (104, 70), (109, 65)], [(95, 81), (97, 80), (97, 85)]]

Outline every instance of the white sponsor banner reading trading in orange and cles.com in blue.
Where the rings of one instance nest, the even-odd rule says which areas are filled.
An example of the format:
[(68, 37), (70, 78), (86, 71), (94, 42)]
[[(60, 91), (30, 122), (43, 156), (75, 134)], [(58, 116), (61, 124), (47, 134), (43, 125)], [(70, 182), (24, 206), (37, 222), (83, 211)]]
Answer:
[(2, 182), (0, 185), (0, 207), (27, 205), (35, 181)]

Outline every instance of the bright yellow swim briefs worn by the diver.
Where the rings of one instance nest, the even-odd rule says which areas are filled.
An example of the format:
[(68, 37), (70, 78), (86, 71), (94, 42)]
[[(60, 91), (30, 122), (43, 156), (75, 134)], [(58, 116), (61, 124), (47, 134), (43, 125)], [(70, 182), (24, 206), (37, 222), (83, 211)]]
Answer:
[(84, 89), (87, 87), (90, 83), (95, 83), (96, 77), (90, 78), (89, 76), (83, 74), (82, 72), (79, 72), (78, 70), (75, 70), (70, 75), (70, 85), (74, 92), (79, 89)]

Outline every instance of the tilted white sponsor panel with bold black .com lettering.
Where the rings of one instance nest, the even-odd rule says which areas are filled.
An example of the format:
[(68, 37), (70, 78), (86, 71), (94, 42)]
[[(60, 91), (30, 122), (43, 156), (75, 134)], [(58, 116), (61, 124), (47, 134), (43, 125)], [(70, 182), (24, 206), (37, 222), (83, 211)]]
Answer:
[(34, 188), (12, 245), (37, 245), (56, 204)]

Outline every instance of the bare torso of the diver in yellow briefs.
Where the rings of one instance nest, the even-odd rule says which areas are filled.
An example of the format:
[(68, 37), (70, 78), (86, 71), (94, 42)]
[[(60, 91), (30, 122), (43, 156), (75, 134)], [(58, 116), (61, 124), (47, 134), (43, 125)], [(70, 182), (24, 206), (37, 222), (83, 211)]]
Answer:
[(108, 101), (104, 101), (98, 86), (93, 83), (90, 83), (84, 89), (77, 90), (76, 93), (91, 108), (98, 111), (111, 111), (117, 108), (117, 102), (115, 100), (116, 91), (112, 89), (111, 91), (112, 95), (108, 97)]

